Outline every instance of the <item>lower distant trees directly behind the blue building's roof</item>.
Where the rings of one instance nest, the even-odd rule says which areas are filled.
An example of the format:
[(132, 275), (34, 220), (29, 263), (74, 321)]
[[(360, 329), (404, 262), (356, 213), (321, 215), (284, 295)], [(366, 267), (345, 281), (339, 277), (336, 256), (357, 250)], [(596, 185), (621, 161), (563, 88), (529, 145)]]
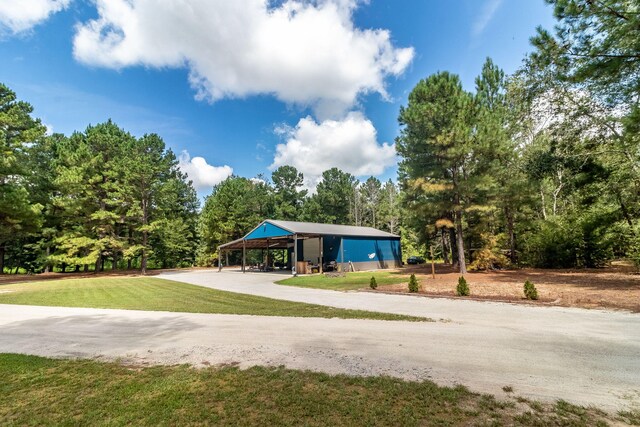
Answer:
[[(204, 202), (198, 231), (198, 263), (217, 262), (218, 245), (239, 239), (265, 218), (374, 227), (400, 233), (398, 187), (375, 177), (360, 182), (331, 168), (314, 194), (303, 189), (304, 175), (280, 166), (268, 179), (231, 176), (213, 188)], [(238, 262), (239, 254), (231, 254)]]

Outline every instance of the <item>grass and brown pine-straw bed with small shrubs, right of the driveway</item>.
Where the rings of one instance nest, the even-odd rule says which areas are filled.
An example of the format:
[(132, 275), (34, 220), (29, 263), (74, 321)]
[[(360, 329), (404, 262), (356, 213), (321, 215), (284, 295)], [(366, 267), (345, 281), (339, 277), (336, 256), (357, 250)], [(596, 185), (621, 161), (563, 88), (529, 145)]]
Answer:
[[(377, 292), (408, 293), (407, 284), (412, 273), (420, 283), (420, 294), (455, 297), (460, 274), (443, 264), (436, 264), (435, 279), (431, 277), (430, 265), (420, 265), (398, 270), (347, 273), (344, 277), (301, 276), (278, 283), (333, 290), (370, 290), (369, 280), (374, 276)], [(633, 268), (627, 265), (602, 269), (469, 272), (465, 278), (471, 290), (469, 298), (472, 299), (640, 312), (640, 275), (633, 274)], [(526, 280), (535, 284), (538, 301), (524, 299)]]

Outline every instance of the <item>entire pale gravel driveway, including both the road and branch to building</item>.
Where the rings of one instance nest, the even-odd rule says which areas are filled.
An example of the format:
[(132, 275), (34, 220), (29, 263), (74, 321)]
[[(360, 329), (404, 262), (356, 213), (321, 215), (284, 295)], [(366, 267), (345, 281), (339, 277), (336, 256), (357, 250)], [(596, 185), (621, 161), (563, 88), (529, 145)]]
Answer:
[[(273, 275), (160, 277), (335, 307), (447, 319), (389, 322), (0, 305), (0, 352), (135, 363), (285, 365), (640, 408), (640, 316), (274, 285)], [(277, 277), (275, 277), (277, 279)]]

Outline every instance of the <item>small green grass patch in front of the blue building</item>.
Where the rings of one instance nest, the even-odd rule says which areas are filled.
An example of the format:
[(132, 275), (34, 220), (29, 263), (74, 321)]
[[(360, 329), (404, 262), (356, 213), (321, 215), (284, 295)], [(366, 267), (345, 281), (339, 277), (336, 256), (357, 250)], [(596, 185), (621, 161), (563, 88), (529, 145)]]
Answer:
[(376, 278), (378, 286), (408, 282), (409, 276), (393, 271), (347, 273), (342, 277), (327, 275), (297, 276), (280, 280), (279, 285), (299, 286), (301, 288), (330, 289), (334, 291), (353, 291), (369, 287), (371, 276)]

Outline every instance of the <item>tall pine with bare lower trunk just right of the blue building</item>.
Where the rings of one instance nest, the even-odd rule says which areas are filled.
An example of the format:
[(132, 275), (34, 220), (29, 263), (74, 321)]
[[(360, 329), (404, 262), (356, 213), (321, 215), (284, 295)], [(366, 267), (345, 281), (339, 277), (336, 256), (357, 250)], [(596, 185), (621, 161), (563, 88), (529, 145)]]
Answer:
[(401, 107), (402, 126), (396, 140), (402, 157), (400, 182), (428, 214), (423, 227), (443, 215), (455, 224), (459, 269), (466, 273), (463, 227), (465, 215), (483, 193), (484, 165), (475, 143), (473, 97), (460, 79), (447, 72), (421, 80)]

